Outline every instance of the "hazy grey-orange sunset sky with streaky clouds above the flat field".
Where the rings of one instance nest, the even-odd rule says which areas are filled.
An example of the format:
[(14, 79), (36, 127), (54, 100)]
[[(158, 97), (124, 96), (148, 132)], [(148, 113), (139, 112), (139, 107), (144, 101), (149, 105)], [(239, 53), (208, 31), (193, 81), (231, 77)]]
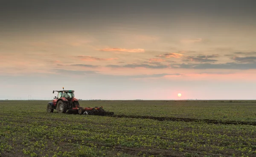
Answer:
[(254, 0), (1, 0), (0, 99), (255, 99), (255, 15)]

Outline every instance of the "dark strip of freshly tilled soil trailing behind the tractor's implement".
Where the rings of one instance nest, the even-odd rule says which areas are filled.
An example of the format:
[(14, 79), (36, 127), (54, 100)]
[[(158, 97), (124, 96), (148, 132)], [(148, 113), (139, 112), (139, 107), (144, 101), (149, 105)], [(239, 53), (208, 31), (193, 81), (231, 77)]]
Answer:
[(175, 118), (175, 117), (157, 117), (157, 116), (130, 116), (130, 115), (112, 115), (116, 118), (137, 118), (137, 119), (153, 119), (158, 121), (177, 121), (177, 122), (206, 122), (209, 124), (224, 124), (224, 125), (256, 125), (256, 122), (247, 121), (223, 121), (214, 119), (193, 119), (193, 118)]

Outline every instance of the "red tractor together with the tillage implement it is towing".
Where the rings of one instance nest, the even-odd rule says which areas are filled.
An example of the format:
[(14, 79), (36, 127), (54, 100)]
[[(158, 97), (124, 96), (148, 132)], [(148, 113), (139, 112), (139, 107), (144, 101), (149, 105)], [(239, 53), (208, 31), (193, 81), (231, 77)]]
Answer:
[(79, 106), (78, 99), (75, 98), (74, 90), (53, 90), (52, 93), (58, 92), (52, 102), (47, 104), (47, 112), (57, 110), (58, 113), (78, 113), (84, 115), (113, 115), (113, 112), (107, 112), (102, 107), (83, 108)]

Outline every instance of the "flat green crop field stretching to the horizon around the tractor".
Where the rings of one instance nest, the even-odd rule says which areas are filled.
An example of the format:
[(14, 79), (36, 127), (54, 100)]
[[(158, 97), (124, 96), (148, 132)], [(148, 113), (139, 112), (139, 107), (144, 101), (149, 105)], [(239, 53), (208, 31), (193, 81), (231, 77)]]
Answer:
[(0, 101), (0, 157), (255, 157), (256, 101), (81, 101), (114, 116)]

